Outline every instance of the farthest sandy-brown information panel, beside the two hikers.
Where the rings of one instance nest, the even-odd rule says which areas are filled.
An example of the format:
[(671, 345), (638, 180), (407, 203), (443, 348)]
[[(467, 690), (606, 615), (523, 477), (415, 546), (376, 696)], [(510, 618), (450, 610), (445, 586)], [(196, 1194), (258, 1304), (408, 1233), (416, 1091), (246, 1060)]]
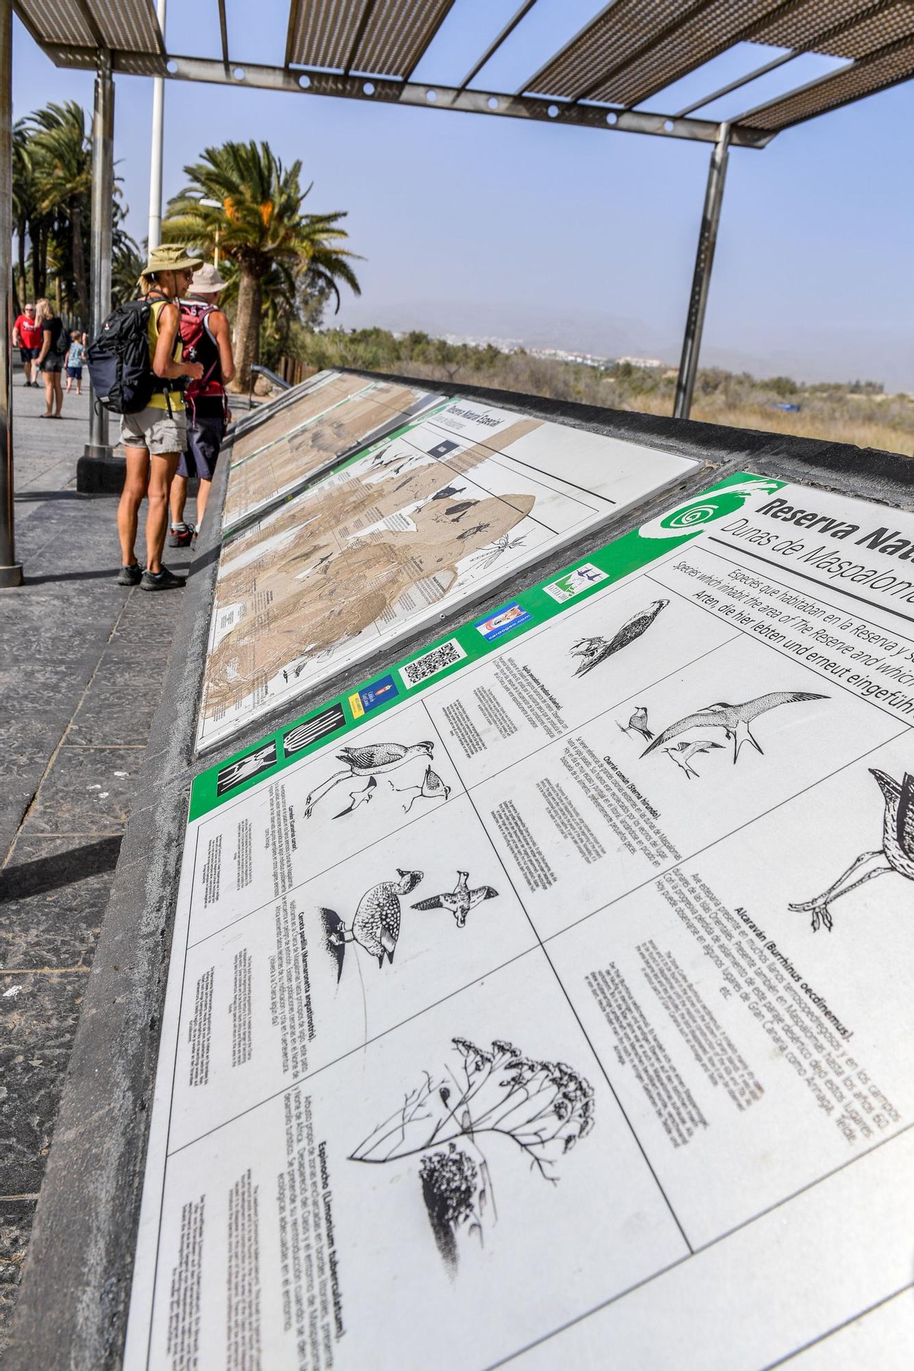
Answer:
[(340, 458), (439, 399), (410, 385), (328, 373), (295, 404), (233, 444), (222, 532), (274, 509)]

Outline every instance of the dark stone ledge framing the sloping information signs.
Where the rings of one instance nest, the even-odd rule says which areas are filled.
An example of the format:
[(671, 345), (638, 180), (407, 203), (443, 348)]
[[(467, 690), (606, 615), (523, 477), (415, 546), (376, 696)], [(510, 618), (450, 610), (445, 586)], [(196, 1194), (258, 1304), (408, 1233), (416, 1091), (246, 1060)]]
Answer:
[[(396, 377), (392, 380), (403, 380)], [(417, 381), (429, 387), (433, 383)], [(914, 506), (914, 462), (896, 454), (844, 444), (752, 433), (718, 425), (677, 422), (540, 400), (526, 395), (448, 385), (534, 417), (574, 424), (589, 432), (644, 441), (704, 466), (680, 489), (648, 500), (621, 520), (529, 569), (512, 583), (540, 580), (554, 566), (586, 555), (591, 547), (681, 502), (685, 489), (711, 484), (733, 470), (755, 470), (788, 480)], [(111, 463), (106, 463), (108, 470)], [(156, 713), (130, 816), (111, 902), (106, 913), (53, 1145), (38, 1201), (22, 1278), (7, 1371), (108, 1371), (121, 1366), (132, 1261), (138, 1222), (149, 1100), (156, 1069), (159, 1024), (181, 866), (190, 779), (229, 753), (263, 736), (275, 718), (259, 720), (230, 743), (193, 760), (193, 736), (206, 657), (206, 638), (219, 557), (219, 521), (227, 462), (214, 480), (197, 542), (182, 617), (174, 636), (162, 703)], [(504, 602), (506, 587), (451, 613), (437, 632), (466, 622)], [(418, 635), (428, 639), (429, 631)], [(397, 644), (407, 655), (414, 640)], [(351, 680), (375, 673), (389, 650), (282, 707), (304, 714)]]

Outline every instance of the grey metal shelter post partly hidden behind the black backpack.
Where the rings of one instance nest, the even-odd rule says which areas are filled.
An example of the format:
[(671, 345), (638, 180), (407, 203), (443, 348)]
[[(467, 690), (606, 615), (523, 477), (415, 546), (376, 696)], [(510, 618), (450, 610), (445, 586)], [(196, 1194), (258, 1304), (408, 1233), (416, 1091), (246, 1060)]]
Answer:
[[(114, 78), (111, 53), (99, 51), (92, 115), (92, 337), (111, 313), (111, 239), (114, 228)], [(89, 391), (86, 457), (111, 457), (108, 411)]]

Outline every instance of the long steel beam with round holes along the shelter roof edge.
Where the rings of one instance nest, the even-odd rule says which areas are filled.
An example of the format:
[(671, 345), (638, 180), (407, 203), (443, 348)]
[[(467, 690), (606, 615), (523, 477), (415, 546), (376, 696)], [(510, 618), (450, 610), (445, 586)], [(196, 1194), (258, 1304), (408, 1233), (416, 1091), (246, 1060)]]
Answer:
[[(59, 67), (95, 66), (88, 48), (45, 45), (44, 51)], [(680, 119), (676, 115), (647, 114), (640, 110), (611, 110), (604, 104), (571, 104), (539, 96), (506, 95), (497, 90), (462, 90), (459, 86), (432, 85), (418, 81), (392, 81), (385, 77), (354, 77), (332, 71), (307, 71), (300, 67), (273, 67), (255, 63), (233, 66), (227, 73), (218, 59), (162, 59), (153, 52), (114, 52), (114, 71), (127, 75), (164, 75), (171, 81), (200, 81), (211, 85), (245, 86), (254, 90), (286, 90), (295, 95), (325, 95), (338, 100), (363, 100), (366, 104), (403, 104), (423, 110), (458, 110), (463, 114), (488, 114), (492, 118), (534, 119), (541, 123), (570, 123), (577, 128), (603, 129), (607, 133), (647, 133), (660, 138), (684, 138), (692, 143), (717, 143), (719, 123), (713, 119)], [(730, 145), (763, 148), (774, 130), (730, 125)]]

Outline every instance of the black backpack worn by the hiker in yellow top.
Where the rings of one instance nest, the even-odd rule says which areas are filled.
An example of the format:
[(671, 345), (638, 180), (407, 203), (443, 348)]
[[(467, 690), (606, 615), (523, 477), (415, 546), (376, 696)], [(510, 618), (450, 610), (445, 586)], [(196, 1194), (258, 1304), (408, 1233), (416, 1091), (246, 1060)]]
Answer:
[(92, 389), (99, 404), (112, 414), (138, 414), (156, 391), (182, 388), (182, 381), (163, 381), (149, 363), (149, 313), (153, 303), (158, 302), (147, 299), (119, 304), (86, 348)]

